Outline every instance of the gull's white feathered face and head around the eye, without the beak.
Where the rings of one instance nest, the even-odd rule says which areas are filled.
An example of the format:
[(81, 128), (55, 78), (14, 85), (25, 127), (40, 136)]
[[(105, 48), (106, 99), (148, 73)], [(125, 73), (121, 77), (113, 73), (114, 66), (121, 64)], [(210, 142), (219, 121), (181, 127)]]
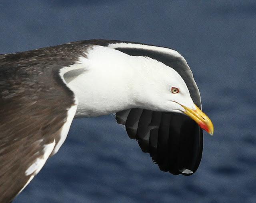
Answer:
[(143, 57), (140, 60), (145, 60), (147, 65), (136, 67), (138, 76), (135, 76), (133, 92), (136, 92), (135, 100), (141, 108), (177, 113), (185, 111), (182, 105), (196, 109), (180, 74), (151, 58)]

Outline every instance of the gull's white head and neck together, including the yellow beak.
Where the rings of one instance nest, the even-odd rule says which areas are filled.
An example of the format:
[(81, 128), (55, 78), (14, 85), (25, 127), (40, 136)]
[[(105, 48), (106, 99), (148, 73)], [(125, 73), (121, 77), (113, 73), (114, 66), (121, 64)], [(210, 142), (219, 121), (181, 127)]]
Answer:
[(78, 116), (130, 108), (185, 113), (213, 133), (210, 119), (194, 104), (186, 83), (171, 67), (102, 46), (92, 48), (79, 63), (76, 68), (84, 71), (68, 83), (78, 97)]

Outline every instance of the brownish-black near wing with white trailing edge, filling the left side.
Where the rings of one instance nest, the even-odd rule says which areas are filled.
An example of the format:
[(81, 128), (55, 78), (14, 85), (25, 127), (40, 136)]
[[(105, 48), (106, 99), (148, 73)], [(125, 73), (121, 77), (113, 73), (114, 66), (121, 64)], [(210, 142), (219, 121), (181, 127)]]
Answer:
[(73, 55), (61, 46), (0, 55), (0, 202), (12, 201), (68, 133), (76, 104), (59, 70)]

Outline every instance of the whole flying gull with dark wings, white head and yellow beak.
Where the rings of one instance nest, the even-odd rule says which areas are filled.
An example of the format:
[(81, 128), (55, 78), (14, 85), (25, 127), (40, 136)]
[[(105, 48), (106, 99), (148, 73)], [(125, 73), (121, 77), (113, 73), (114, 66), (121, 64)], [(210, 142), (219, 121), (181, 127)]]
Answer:
[(174, 175), (195, 173), (202, 129), (214, 132), (192, 71), (170, 48), (83, 40), (0, 55), (0, 202), (58, 152), (74, 118), (111, 113)]

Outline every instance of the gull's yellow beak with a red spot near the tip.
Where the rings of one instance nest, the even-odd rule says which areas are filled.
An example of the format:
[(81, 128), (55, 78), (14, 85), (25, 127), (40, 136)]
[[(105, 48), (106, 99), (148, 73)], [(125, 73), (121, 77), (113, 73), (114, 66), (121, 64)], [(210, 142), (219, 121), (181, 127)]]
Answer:
[(213, 135), (214, 127), (212, 121), (200, 108), (197, 107), (197, 105), (195, 105), (196, 110), (190, 109), (184, 105), (181, 106), (186, 110), (184, 111), (186, 115), (196, 121), (196, 123), (210, 135)]

